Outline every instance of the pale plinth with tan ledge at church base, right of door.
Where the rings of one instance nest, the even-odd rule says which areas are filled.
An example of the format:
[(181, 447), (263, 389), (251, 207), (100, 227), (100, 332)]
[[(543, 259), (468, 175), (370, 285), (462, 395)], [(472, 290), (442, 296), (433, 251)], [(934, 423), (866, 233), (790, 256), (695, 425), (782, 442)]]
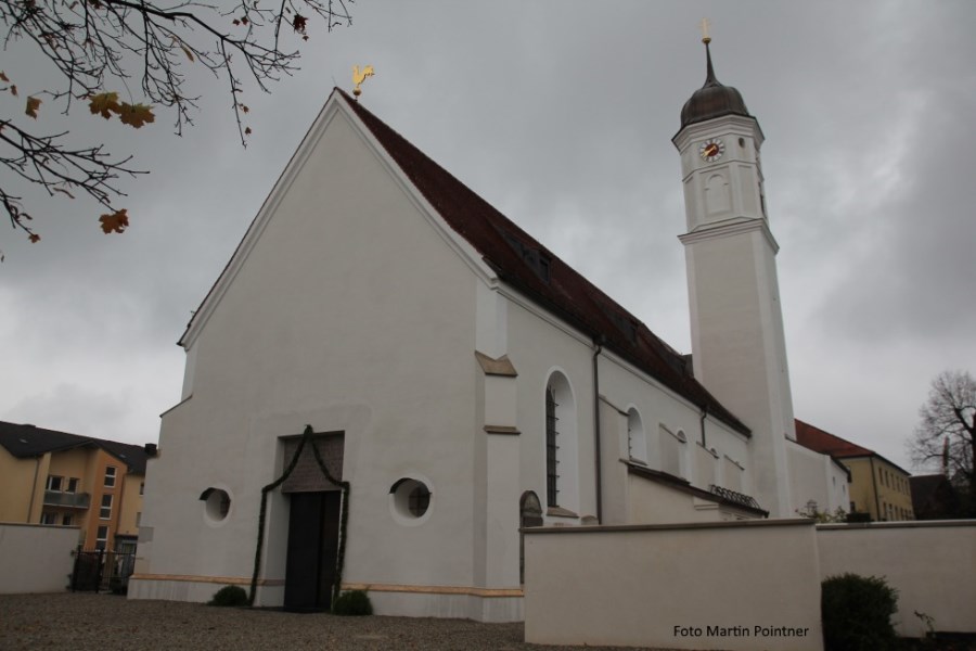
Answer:
[(343, 584), (343, 590), (365, 590), (373, 613), (399, 617), (446, 617), (476, 622), (522, 622), (521, 588)]

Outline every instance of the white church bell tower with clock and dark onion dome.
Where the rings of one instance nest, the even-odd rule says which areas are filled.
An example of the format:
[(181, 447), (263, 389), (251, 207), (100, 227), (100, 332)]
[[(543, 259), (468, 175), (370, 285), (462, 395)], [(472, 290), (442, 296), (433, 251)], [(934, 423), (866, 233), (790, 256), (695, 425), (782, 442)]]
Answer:
[(786, 438), (796, 438), (759, 149), (762, 129), (742, 94), (716, 79), (707, 36), (705, 85), (681, 110), (681, 153), (695, 378), (753, 433), (748, 493), (773, 518), (792, 515)]

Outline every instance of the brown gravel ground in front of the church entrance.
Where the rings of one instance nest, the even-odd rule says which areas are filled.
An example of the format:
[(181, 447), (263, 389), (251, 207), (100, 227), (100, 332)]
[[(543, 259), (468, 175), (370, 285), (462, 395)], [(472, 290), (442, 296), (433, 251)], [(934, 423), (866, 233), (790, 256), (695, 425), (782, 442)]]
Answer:
[[(0, 595), (0, 649), (575, 650), (527, 644), (516, 624), (414, 617), (337, 617), (90, 592)], [(587, 647), (589, 651), (609, 647)]]

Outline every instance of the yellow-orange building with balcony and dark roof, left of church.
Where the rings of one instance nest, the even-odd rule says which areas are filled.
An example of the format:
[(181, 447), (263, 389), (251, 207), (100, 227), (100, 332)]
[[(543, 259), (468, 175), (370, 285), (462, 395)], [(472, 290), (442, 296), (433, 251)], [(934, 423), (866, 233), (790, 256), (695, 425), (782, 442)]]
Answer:
[(138, 445), (0, 421), (0, 522), (78, 526), (86, 549), (134, 549), (147, 457)]

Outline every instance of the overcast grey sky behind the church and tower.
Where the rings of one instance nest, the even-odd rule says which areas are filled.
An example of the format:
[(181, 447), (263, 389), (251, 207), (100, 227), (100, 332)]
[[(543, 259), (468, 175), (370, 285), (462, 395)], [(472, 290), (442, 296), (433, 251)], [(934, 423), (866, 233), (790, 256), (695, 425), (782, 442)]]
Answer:
[[(246, 150), (222, 85), (202, 72), (202, 113), (182, 138), (162, 112), (140, 131), (81, 111), (66, 120), (78, 142), (104, 139), (152, 174), (125, 183), (123, 235), (102, 234), (81, 201), (44, 202), (38, 244), (0, 235), (0, 419), (157, 439), (191, 310), (332, 87), (351, 89), (354, 64), (376, 69), (370, 111), (689, 352), (670, 139), (704, 82), (708, 16), (717, 76), (767, 138), (796, 416), (912, 468), (903, 444), (932, 378), (976, 371), (976, 3), (351, 9), (349, 28), (313, 26), (303, 69), (273, 94), (247, 91)], [(0, 56), (8, 74), (37, 64), (26, 46)]]

